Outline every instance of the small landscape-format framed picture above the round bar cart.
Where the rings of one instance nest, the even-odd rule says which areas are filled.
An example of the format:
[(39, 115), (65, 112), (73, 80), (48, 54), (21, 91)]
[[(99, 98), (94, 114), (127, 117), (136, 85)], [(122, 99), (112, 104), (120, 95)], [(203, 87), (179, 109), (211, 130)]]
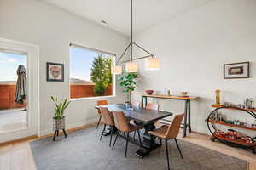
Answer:
[(232, 78), (249, 78), (250, 77), (250, 63), (231, 63), (224, 65), (224, 79)]

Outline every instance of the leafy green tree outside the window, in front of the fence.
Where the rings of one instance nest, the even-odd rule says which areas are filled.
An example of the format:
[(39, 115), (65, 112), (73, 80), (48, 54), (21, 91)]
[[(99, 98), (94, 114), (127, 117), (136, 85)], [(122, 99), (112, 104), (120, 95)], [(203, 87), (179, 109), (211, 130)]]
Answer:
[(97, 95), (104, 95), (108, 86), (112, 84), (111, 64), (112, 59), (102, 54), (99, 54), (92, 62), (90, 79), (96, 84), (94, 93)]

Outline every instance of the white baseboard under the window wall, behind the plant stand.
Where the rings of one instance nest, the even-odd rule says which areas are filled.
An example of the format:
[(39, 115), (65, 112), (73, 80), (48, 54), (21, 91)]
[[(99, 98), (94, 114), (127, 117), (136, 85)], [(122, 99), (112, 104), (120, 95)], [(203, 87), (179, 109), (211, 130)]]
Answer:
[[(75, 128), (75, 127), (82, 127), (84, 125), (87, 125), (87, 124), (90, 124), (90, 123), (93, 123), (93, 122), (97, 122), (98, 119), (99, 118), (96, 117), (96, 118), (89, 119), (89, 120), (86, 120), (86, 121), (83, 121), (83, 122), (76, 122), (76, 123), (66, 124), (66, 129), (71, 129), (71, 128)], [(38, 136), (40, 137), (40, 136), (44, 136), (44, 135), (47, 135), (47, 134), (50, 134), (50, 133), (53, 133), (52, 127), (50, 129), (41, 131), (40, 134), (38, 134)]]

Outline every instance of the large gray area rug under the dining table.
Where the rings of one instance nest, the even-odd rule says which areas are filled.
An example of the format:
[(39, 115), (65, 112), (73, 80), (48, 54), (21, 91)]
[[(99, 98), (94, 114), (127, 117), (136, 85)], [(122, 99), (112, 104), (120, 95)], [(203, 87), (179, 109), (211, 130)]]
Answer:
[[(102, 126), (68, 133), (67, 139), (57, 137), (31, 143), (38, 170), (166, 170), (166, 150), (161, 148), (143, 159), (135, 156), (136, 144), (129, 143), (125, 158), (125, 139), (119, 138), (115, 149), (108, 147), (110, 137), (99, 141)], [(115, 137), (115, 136), (114, 136)], [(113, 138), (114, 139), (114, 138)], [(178, 140), (184, 159), (179, 156), (173, 140), (169, 141), (170, 162), (175, 170), (247, 170), (247, 162), (214, 150)]]

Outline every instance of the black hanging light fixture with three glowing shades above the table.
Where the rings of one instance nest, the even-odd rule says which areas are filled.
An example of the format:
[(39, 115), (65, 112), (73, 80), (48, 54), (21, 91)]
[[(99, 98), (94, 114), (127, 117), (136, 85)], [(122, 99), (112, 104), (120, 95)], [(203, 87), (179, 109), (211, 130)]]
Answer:
[[(154, 57), (154, 54), (151, 54), (146, 49), (139, 46), (136, 42), (133, 42), (133, 4), (131, 0), (131, 42), (129, 43), (128, 47), (125, 49), (125, 52), (120, 56), (118, 59), (116, 65), (113, 66), (112, 72), (113, 74), (121, 74), (122, 73), (122, 66), (118, 65), (120, 59), (124, 56), (124, 54), (127, 52), (129, 48), (131, 48), (131, 58), (129, 60), (123, 61), (125, 63), (125, 71), (126, 72), (137, 72), (138, 66), (137, 63), (134, 62), (134, 60), (137, 59), (147, 59), (145, 66), (146, 70), (158, 70), (160, 68), (160, 61), (156, 57)], [(140, 48), (144, 52), (146, 52), (148, 55), (140, 58), (133, 58), (133, 46)]]

